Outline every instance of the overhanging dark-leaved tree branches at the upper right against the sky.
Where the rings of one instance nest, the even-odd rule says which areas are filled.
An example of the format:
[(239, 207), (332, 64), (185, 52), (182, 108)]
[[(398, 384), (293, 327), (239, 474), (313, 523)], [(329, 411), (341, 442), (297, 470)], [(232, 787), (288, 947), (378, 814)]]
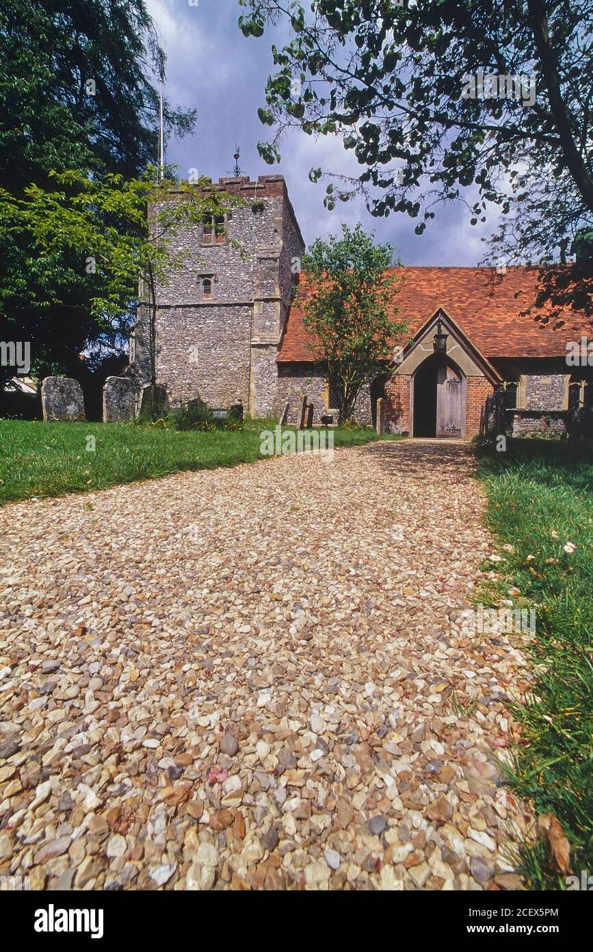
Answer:
[[(544, 297), (591, 310), (593, 0), (239, 4), (249, 8), (245, 35), (268, 20), (294, 33), (273, 48), (277, 71), (259, 109), (275, 129), (259, 146), (266, 161), (277, 161), (289, 127), (339, 137), (361, 172), (336, 177), (326, 205), (362, 192), (376, 215), (419, 218), (418, 233), (444, 203), (466, 203), (472, 225), (498, 206), (488, 260), (547, 265), (578, 252), (569, 274), (543, 268)], [(472, 97), (478, 70), (502, 77), (503, 95), (497, 86), (481, 98), (476, 85)]]

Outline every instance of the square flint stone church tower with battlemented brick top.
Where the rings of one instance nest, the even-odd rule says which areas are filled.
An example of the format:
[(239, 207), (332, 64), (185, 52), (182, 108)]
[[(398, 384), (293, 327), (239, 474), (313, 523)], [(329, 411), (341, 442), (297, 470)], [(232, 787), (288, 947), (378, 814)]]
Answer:
[[(189, 248), (181, 272), (158, 290), (155, 327), (157, 382), (171, 406), (198, 395), (210, 407), (242, 402), (253, 416), (277, 413), (277, 348), (286, 324), (304, 242), (281, 175), (221, 178), (212, 188), (239, 195), (245, 205), (225, 223), (180, 234)], [(150, 379), (146, 317), (130, 342), (128, 374)]]

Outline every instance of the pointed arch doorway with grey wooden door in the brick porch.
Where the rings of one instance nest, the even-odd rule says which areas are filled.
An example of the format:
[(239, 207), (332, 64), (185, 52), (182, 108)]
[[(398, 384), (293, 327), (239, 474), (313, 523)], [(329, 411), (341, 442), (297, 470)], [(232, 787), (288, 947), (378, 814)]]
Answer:
[(432, 354), (411, 377), (413, 436), (464, 439), (467, 379), (453, 362)]

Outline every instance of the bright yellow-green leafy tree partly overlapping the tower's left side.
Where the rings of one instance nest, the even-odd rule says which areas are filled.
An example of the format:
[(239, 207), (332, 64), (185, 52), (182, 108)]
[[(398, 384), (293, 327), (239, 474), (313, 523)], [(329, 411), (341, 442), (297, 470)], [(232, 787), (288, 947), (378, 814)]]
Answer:
[[(22, 198), (0, 188), (0, 243), (18, 236), (30, 249), (43, 288), (31, 307), (43, 322), (45, 313), (62, 306), (66, 280), (70, 294), (87, 303), (95, 339), (107, 342), (127, 330), (142, 307), (155, 383), (158, 288), (170, 283), (190, 253), (176, 248), (175, 239), (197, 223), (230, 217), (242, 200), (210, 188), (211, 180), (203, 177), (191, 185), (155, 180), (152, 167), (137, 179), (73, 169), (50, 172), (48, 179), (52, 188), (31, 185)], [(31, 356), (35, 367), (40, 358), (34, 348)]]

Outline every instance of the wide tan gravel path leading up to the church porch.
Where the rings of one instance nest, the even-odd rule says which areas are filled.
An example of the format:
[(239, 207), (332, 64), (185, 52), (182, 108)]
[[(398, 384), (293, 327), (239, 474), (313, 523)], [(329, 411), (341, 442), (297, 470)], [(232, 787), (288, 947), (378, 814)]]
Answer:
[(0, 510), (0, 876), (517, 887), (525, 661), (459, 620), (483, 506), (409, 441)]

